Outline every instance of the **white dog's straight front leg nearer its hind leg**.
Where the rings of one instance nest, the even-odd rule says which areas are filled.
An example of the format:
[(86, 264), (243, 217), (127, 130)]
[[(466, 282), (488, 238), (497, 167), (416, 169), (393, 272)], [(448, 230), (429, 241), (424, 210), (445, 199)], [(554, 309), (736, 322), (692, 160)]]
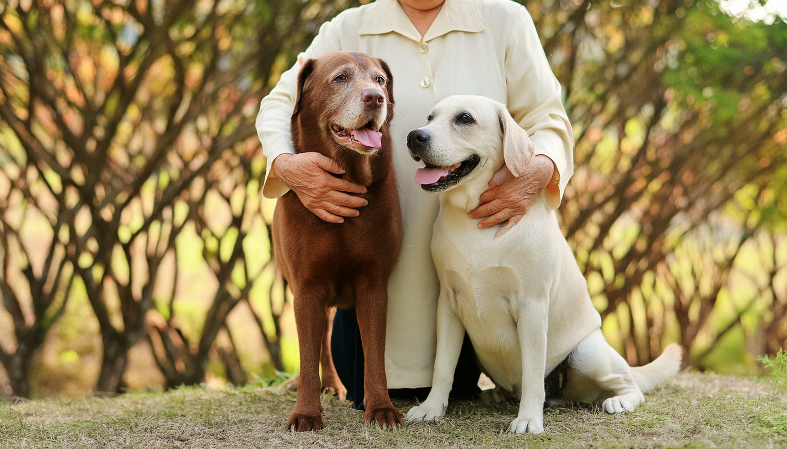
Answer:
[(549, 303), (544, 299), (522, 302), (516, 330), (522, 353), (522, 400), (519, 414), (508, 432), (544, 432), (544, 371), (546, 370), (546, 331)]

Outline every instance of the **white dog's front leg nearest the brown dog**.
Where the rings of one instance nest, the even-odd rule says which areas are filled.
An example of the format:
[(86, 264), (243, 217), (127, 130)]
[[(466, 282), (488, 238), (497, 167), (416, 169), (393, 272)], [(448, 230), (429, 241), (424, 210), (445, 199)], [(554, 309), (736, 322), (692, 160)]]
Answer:
[(437, 320), (438, 345), (434, 359), (432, 389), (427, 400), (407, 412), (407, 421), (434, 421), (445, 414), (448, 395), (453, 386), (453, 373), (459, 361), (459, 353), (464, 341), (464, 326), (453, 313), (448, 298), (441, 293), (438, 300)]

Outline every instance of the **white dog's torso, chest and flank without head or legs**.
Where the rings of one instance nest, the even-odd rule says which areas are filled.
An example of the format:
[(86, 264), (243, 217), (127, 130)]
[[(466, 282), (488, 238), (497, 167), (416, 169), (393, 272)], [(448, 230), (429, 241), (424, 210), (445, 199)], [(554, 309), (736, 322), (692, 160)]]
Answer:
[(508, 234), (478, 230), (475, 222), (441, 215), (435, 223), (432, 254), (448, 301), (470, 336), (479, 361), (501, 387), (518, 393), (522, 352), (517, 321), (534, 301), (549, 313), (546, 368), (551, 370), (593, 329), (600, 326), (582, 274), (543, 204)]

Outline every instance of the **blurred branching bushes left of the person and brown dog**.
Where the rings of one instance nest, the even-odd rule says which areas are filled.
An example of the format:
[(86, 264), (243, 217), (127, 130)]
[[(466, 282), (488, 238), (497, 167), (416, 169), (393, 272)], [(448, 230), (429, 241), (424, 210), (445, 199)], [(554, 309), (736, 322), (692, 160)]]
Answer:
[[(275, 275), (261, 276), (274, 270), (259, 235), (268, 228), (254, 117), (271, 79), (292, 63), (287, 55), (336, 11), (301, 6), (0, 6), (2, 293), (15, 340), (0, 362), (14, 395), (28, 396), (33, 355), (74, 289), (87, 296), (101, 335), (96, 392), (124, 388), (128, 353), (143, 338), (168, 386), (204, 380), (212, 359), (245, 381), (227, 315), (260, 280), (283, 288)], [(41, 263), (42, 240), (49, 256)], [(181, 259), (195, 245), (198, 275), (212, 276), (207, 312), (182, 293), (180, 270), (190, 263)], [(284, 298), (267, 296), (261, 341), (283, 369)]]

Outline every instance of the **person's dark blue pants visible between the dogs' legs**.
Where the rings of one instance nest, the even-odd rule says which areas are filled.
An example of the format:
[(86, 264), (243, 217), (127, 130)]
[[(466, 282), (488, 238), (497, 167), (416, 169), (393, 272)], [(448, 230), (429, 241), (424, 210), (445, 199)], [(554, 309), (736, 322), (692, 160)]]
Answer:
[[(364, 410), (364, 348), (360, 343), (360, 329), (355, 309), (338, 309), (334, 316), (331, 335), (331, 353), (339, 379), (347, 388), (347, 399), (353, 401), (358, 410)], [(464, 336), (459, 363), (453, 376), (451, 397), (455, 399), (474, 399), (481, 392), (478, 377), (481, 370), (475, 359), (475, 352), (467, 334)], [(392, 398), (419, 400), (429, 395), (426, 388), (398, 388), (389, 390)]]

